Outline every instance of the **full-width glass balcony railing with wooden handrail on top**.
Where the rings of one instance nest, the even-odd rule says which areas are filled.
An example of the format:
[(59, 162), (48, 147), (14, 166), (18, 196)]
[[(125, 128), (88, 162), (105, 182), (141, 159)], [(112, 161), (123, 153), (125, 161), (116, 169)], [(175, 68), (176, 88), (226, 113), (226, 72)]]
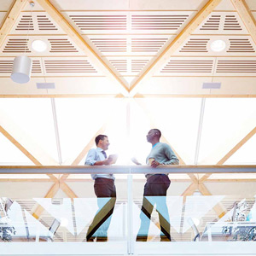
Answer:
[[(145, 174), (167, 194), (143, 196)], [(256, 166), (0, 166), (0, 254), (253, 255), (255, 196)]]

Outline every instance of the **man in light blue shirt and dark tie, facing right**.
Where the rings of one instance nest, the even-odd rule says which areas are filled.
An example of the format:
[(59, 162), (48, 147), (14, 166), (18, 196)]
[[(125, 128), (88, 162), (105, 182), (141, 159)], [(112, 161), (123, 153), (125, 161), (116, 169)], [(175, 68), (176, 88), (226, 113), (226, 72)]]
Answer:
[[(91, 148), (87, 154), (85, 165), (109, 166), (113, 163), (111, 157), (107, 158), (109, 142), (106, 135), (98, 135), (95, 139), (96, 147)], [(94, 190), (97, 196), (98, 211), (90, 224), (86, 234), (86, 241), (108, 241), (108, 227), (113, 207), (116, 201), (116, 189), (113, 174), (91, 174), (95, 180)]]

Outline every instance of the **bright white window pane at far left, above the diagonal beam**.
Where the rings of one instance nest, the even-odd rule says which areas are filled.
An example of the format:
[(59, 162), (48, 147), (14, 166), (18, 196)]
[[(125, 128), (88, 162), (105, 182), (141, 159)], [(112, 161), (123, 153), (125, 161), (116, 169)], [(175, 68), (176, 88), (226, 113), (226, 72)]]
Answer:
[[(44, 150), (44, 154), (49, 154), (55, 162), (58, 162), (50, 99), (0, 99), (0, 109), (14, 123), (16, 130), (22, 131), (29, 142), (38, 145)], [(8, 121), (4, 119), (3, 124)], [(11, 135), (20, 143), (19, 137), (15, 134)], [(26, 145), (22, 146), (26, 148)], [(15, 158), (13, 160), (15, 162)], [(49, 162), (43, 161), (42, 164), (47, 165)]]

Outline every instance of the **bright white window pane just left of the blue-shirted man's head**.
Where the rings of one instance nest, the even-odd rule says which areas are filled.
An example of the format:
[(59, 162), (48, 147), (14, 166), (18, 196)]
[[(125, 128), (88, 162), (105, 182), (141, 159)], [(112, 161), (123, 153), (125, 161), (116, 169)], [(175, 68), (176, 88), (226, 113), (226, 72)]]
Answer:
[[(95, 137), (96, 131), (101, 129), (110, 117), (116, 116), (122, 103), (119, 99), (95, 98), (62, 98), (55, 99), (55, 102), (61, 154), (65, 165), (70, 165), (90, 139)], [(84, 160), (80, 161), (80, 165), (84, 165)]]

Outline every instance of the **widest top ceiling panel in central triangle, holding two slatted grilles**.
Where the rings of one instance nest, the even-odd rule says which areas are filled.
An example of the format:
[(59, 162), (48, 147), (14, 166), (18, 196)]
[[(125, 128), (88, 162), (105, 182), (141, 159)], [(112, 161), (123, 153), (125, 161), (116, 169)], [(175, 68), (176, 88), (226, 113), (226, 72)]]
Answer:
[(176, 33), (194, 14), (192, 11), (166, 12), (65, 12), (82, 34), (166, 34)]

